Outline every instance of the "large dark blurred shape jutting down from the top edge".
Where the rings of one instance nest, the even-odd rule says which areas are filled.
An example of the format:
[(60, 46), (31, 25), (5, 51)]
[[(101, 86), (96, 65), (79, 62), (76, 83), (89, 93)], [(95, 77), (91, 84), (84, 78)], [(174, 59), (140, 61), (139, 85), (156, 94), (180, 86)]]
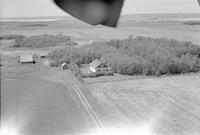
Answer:
[(65, 12), (92, 25), (116, 27), (124, 0), (54, 0)]

